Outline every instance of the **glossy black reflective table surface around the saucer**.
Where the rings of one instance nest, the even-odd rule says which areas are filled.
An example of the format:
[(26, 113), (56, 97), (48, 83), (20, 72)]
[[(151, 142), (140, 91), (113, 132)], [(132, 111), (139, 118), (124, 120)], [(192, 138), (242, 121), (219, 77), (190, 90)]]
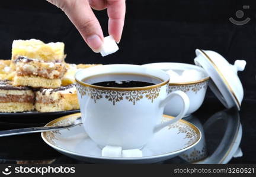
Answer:
[[(197, 112), (185, 118), (203, 133), (199, 149), (195, 147), (187, 154), (161, 163), (255, 163), (255, 113), (256, 100), (244, 100), (238, 112), (236, 109), (225, 109), (215, 97), (206, 98)], [(0, 121), (1, 130), (24, 126), (27, 124)], [(0, 140), (0, 163), (86, 163), (50, 148), (43, 142), (40, 133), (0, 137)]]

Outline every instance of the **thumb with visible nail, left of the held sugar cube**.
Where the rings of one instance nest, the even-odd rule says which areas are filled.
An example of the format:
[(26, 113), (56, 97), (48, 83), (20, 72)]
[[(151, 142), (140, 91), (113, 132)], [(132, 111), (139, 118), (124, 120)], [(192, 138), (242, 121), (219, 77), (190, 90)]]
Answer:
[(95, 52), (99, 53), (103, 44), (103, 31), (95, 17), (88, 0), (47, 0), (65, 12), (78, 29), (85, 42)]

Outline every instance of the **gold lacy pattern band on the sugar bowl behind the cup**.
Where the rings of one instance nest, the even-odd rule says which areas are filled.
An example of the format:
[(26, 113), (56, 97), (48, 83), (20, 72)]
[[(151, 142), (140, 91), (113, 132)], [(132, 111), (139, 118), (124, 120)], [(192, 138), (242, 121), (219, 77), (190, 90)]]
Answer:
[(193, 91), (194, 93), (197, 94), (198, 91), (200, 91), (201, 89), (206, 89), (207, 88), (207, 84), (208, 84), (209, 80), (203, 81), (201, 83), (196, 83), (196, 84), (181, 84), (181, 85), (170, 85), (169, 84), (169, 89), (168, 89), (168, 93), (171, 93), (172, 91), (175, 90), (181, 90), (184, 91), (185, 93), (187, 91)]

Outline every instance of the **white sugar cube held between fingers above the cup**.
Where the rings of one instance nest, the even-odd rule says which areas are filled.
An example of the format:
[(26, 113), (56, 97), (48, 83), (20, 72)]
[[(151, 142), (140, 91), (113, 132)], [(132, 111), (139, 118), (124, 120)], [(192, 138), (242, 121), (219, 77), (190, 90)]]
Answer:
[(113, 36), (109, 35), (104, 37), (104, 44), (100, 51), (101, 55), (105, 57), (106, 55), (115, 53), (117, 50), (119, 50), (119, 47), (117, 46)]

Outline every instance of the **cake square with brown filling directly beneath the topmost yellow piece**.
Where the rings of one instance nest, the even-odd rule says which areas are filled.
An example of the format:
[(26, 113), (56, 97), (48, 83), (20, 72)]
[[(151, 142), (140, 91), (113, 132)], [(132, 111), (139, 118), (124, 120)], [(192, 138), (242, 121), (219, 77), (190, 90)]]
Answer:
[(34, 88), (57, 88), (66, 73), (66, 66), (59, 62), (46, 62), (27, 57), (18, 57), (15, 63), (14, 86)]

